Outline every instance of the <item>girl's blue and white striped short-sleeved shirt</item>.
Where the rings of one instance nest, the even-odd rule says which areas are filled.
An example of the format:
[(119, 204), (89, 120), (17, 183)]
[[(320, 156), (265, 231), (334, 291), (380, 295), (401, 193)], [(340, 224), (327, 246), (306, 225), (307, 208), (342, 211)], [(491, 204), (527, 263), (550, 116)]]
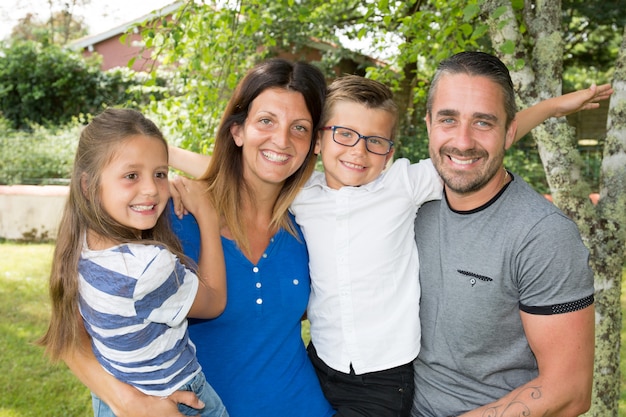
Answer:
[(104, 369), (158, 396), (200, 372), (186, 319), (198, 279), (175, 255), (154, 245), (85, 245), (78, 271), (80, 312)]

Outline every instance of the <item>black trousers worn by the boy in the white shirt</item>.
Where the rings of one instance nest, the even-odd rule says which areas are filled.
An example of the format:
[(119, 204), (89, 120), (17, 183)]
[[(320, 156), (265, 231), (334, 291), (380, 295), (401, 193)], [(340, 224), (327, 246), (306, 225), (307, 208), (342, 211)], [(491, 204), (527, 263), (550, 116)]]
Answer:
[(335, 417), (409, 417), (413, 405), (413, 363), (356, 375), (336, 371), (322, 361), (312, 343), (307, 351)]

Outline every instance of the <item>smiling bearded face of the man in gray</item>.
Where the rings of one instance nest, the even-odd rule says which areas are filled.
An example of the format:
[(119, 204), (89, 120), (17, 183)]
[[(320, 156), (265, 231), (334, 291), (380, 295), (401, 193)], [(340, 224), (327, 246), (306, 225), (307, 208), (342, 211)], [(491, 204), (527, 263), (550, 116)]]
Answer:
[(481, 76), (443, 75), (426, 126), (430, 157), (448, 197), (484, 203), (495, 196), (504, 177), (504, 153), (516, 130), (515, 121), (506, 128), (498, 84)]

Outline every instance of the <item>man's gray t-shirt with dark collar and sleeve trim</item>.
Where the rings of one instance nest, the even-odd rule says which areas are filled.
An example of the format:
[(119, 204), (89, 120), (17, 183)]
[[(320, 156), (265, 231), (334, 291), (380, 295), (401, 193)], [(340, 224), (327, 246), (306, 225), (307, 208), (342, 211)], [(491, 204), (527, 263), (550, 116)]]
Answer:
[(578, 228), (519, 177), (470, 212), (445, 199), (424, 204), (415, 236), (422, 349), (413, 417), (459, 415), (535, 378), (520, 310), (560, 314), (593, 303)]

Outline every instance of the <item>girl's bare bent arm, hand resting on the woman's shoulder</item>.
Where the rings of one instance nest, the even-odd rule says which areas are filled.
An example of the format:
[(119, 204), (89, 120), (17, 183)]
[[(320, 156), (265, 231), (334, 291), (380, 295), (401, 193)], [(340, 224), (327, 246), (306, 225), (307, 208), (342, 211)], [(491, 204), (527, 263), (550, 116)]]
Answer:
[(200, 228), (200, 286), (187, 316), (214, 318), (226, 308), (226, 267), (220, 236), (220, 218), (211, 204), (203, 181), (176, 177), (172, 185), (185, 209), (193, 214)]

